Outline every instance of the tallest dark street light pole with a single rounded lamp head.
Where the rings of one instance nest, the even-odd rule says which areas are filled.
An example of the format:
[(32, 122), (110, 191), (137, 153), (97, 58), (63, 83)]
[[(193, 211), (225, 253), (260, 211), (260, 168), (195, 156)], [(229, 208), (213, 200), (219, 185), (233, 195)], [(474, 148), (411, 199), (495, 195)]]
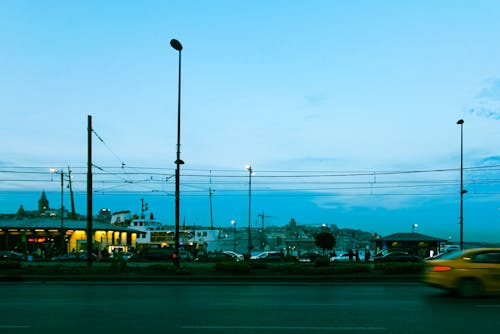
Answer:
[(177, 95), (177, 159), (175, 160), (175, 253), (174, 265), (179, 266), (179, 216), (180, 216), (180, 165), (184, 164), (181, 160), (181, 51), (182, 44), (176, 40), (170, 40), (170, 45), (179, 51), (179, 86)]

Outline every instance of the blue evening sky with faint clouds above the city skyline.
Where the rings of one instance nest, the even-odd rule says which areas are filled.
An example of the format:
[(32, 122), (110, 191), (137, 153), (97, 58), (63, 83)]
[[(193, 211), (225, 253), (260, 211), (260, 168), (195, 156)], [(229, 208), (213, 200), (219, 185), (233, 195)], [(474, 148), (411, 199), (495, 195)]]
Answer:
[(85, 191), (92, 115), (97, 203), (172, 223), (176, 38), (188, 223), (210, 188), (245, 224), (251, 164), (252, 223), (458, 240), (464, 119), (464, 238), (500, 241), (497, 1), (0, 1), (0, 30), (4, 211), (49, 167)]

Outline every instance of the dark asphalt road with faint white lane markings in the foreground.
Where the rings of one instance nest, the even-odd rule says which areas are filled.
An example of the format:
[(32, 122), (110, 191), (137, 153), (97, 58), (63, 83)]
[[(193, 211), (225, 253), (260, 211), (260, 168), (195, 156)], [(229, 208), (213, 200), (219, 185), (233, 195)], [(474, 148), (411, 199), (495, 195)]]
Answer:
[(0, 333), (498, 333), (500, 298), (420, 284), (2, 283)]

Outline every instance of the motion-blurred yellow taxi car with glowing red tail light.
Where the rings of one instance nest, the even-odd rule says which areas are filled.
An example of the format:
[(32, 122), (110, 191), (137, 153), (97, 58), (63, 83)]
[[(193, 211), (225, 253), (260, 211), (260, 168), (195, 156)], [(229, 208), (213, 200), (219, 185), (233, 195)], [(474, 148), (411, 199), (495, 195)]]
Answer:
[(500, 292), (500, 248), (467, 249), (428, 259), (423, 281), (462, 297)]

